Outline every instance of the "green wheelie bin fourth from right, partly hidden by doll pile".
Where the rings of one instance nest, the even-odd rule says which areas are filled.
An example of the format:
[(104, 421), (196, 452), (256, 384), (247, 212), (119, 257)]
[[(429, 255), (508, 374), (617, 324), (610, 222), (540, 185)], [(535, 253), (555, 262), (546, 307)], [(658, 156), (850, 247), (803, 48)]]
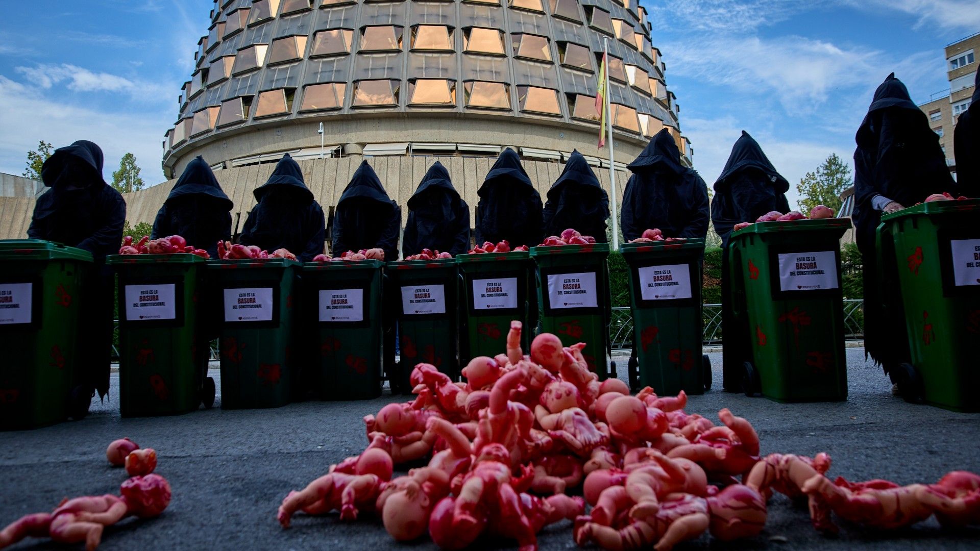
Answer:
[(532, 247), (541, 321), (538, 332), (554, 333), (565, 346), (586, 343), (582, 355), (589, 370), (606, 380), (615, 376), (615, 363), (607, 370), (610, 344), (608, 243)]

